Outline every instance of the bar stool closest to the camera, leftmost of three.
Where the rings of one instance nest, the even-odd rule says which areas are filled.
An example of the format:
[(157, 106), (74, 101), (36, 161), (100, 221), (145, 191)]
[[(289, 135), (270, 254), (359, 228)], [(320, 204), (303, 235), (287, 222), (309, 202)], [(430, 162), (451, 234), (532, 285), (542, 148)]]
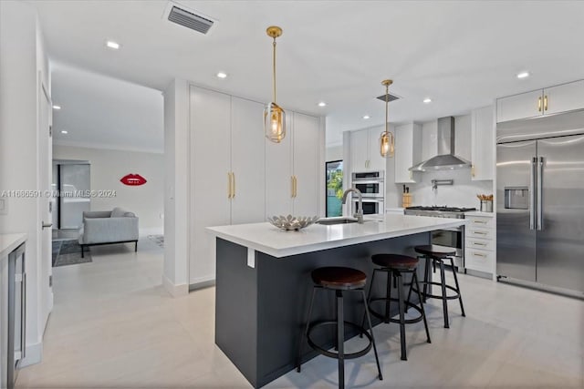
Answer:
[[(324, 267), (318, 268), (312, 271), (311, 273), (312, 281), (314, 282), (313, 289), (312, 289), (312, 297), (310, 299), (310, 305), (308, 307), (308, 315), (307, 315), (307, 326), (304, 332), (304, 336), (301, 336), (298, 343), (298, 353), (297, 353), (297, 372), (300, 373), (301, 368), (301, 358), (302, 358), (302, 340), (306, 336), (308, 341), (308, 345), (312, 347), (318, 353), (326, 355), (330, 358), (336, 358), (339, 360), (339, 388), (345, 387), (345, 360), (346, 359), (353, 359), (358, 358), (362, 355), (368, 353), (373, 347), (373, 352), (375, 353), (375, 361), (377, 362), (377, 371), (379, 373), (378, 377), (380, 380), (383, 379), (381, 375), (381, 365), (380, 360), (377, 355), (377, 347), (375, 345), (375, 338), (373, 337), (373, 327), (371, 326), (371, 318), (369, 314), (369, 310), (367, 308), (367, 303), (365, 300), (365, 292), (363, 288), (365, 283), (367, 282), (367, 275), (356, 269), (345, 268), (345, 267)], [(312, 316), (312, 309), (314, 306), (314, 298), (317, 289), (324, 289), (329, 291), (335, 291), (337, 296), (337, 320), (336, 321), (329, 321), (329, 322), (316, 322), (314, 324), (310, 324), (310, 317)], [(361, 296), (363, 297), (363, 303), (365, 305), (365, 316), (367, 317), (367, 321), (369, 323), (370, 333), (367, 333), (365, 328), (360, 325), (355, 324), (354, 322), (346, 322), (343, 316), (343, 292), (344, 291), (356, 291), (360, 292)], [(312, 331), (320, 326), (324, 325), (335, 325), (337, 327), (337, 347), (335, 350), (338, 350), (337, 353), (330, 352), (323, 347), (319, 346), (318, 344), (314, 343), (310, 334)], [(345, 325), (352, 327), (358, 330), (360, 333), (365, 333), (367, 338), (369, 339), (369, 344), (356, 353), (345, 353), (344, 351), (344, 343), (345, 343)]]

